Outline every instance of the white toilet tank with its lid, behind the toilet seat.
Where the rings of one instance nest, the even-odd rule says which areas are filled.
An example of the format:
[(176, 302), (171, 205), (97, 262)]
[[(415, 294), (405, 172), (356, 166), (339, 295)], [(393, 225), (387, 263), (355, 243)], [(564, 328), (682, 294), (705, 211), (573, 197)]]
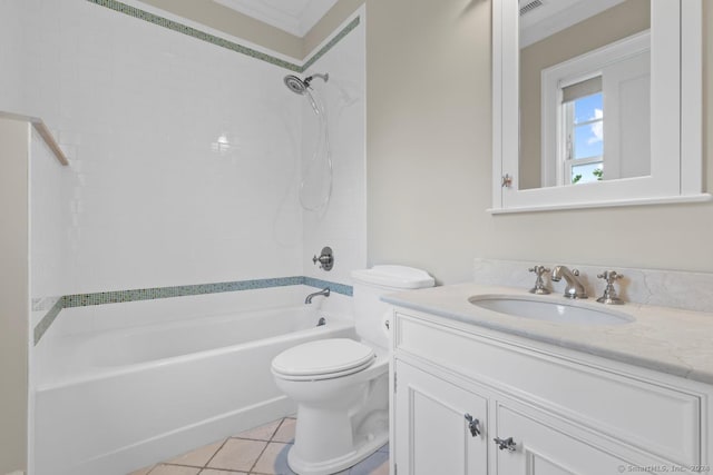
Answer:
[(353, 270), (352, 278), (356, 334), (361, 339), (382, 348), (389, 348), (389, 331), (384, 324), (390, 314), (389, 305), (380, 300), (381, 296), (433, 287), (436, 284), (427, 271), (406, 266), (373, 266), (371, 269)]

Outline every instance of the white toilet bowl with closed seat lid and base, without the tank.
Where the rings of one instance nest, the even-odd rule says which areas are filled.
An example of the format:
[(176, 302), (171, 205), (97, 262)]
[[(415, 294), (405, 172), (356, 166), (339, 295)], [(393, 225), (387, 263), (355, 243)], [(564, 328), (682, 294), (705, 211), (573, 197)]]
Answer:
[[(287, 463), (300, 475), (340, 472), (389, 439), (388, 355), (344, 338), (313, 343), (283, 352), (272, 367), (277, 387), (297, 403), (295, 444)], [(303, 366), (309, 359), (325, 365)]]

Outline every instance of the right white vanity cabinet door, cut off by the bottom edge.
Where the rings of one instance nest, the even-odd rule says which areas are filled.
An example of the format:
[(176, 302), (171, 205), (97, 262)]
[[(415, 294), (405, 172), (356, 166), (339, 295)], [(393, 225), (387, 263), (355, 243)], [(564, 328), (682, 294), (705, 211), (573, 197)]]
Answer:
[[(605, 449), (550, 426), (543, 416), (501, 405), (497, 409), (497, 434), (490, 437), (496, 452), (497, 475), (603, 475), (638, 472)], [(498, 449), (494, 438), (512, 438), (512, 451)], [(654, 464), (646, 473), (658, 473)]]

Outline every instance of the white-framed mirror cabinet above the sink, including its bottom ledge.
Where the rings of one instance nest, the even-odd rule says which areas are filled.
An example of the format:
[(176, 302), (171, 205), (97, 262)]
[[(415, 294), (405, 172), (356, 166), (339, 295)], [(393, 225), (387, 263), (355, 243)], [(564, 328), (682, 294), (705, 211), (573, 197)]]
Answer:
[(701, 0), (494, 0), (492, 212), (704, 200)]

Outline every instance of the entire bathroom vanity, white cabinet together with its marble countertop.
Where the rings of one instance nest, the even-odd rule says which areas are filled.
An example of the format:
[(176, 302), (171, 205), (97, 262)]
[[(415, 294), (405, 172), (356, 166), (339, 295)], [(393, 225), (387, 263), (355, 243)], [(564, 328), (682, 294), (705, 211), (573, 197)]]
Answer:
[[(470, 301), (487, 295), (594, 319), (507, 315)], [(394, 306), (393, 474), (711, 471), (713, 315), (611, 310), (475, 284), (385, 299)], [(623, 318), (598, 321), (598, 311)]]

